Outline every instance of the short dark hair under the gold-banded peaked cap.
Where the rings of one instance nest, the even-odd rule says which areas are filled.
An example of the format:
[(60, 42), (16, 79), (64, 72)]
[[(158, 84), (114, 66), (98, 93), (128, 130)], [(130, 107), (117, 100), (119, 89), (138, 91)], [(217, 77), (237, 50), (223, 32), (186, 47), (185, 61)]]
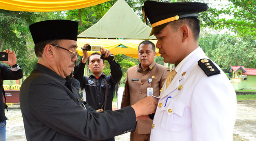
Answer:
[(197, 18), (180, 18), (179, 20), (169, 22), (168, 25), (171, 26), (173, 32), (176, 32), (184, 23), (191, 28), (194, 39), (198, 41), (200, 34), (200, 21)]

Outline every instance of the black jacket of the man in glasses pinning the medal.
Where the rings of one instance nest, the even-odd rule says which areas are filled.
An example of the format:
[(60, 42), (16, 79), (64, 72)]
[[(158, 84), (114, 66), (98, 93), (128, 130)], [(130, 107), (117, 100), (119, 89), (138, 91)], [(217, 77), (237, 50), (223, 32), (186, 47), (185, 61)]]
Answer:
[(135, 129), (132, 107), (105, 112), (85, 107), (69, 77), (38, 63), (20, 89), (27, 141), (95, 141)]

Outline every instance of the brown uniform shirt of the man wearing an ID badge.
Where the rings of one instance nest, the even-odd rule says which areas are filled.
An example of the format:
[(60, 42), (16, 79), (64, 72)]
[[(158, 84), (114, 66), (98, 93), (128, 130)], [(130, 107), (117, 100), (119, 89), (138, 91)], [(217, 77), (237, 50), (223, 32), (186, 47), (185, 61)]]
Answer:
[[(127, 70), (126, 82), (121, 108), (135, 104), (137, 101), (147, 96), (148, 79), (151, 78), (153, 95), (159, 96), (160, 89), (169, 74), (169, 68), (153, 62), (148, 69), (143, 71), (141, 64), (133, 66)], [(138, 120), (135, 133), (150, 134), (153, 120)]]

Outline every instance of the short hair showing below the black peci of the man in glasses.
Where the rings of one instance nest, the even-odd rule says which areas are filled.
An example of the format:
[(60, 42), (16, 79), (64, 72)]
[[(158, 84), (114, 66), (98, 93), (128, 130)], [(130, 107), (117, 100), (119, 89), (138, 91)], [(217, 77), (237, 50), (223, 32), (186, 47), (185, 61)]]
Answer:
[(58, 45), (59, 42), (61, 42), (61, 39), (46, 40), (46, 41), (41, 41), (41, 42), (37, 43), (34, 47), (36, 57), (42, 57), (43, 50), (44, 50), (44, 48), (47, 44), (56, 44), (56, 45)]

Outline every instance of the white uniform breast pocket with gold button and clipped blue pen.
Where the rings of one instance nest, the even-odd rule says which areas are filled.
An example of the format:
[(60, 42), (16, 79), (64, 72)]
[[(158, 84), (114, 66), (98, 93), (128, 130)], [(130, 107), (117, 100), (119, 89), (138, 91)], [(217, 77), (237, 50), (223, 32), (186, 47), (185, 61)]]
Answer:
[(166, 106), (161, 107), (160, 127), (169, 132), (180, 132), (184, 129), (186, 118), (183, 116), (185, 102), (169, 98)]

